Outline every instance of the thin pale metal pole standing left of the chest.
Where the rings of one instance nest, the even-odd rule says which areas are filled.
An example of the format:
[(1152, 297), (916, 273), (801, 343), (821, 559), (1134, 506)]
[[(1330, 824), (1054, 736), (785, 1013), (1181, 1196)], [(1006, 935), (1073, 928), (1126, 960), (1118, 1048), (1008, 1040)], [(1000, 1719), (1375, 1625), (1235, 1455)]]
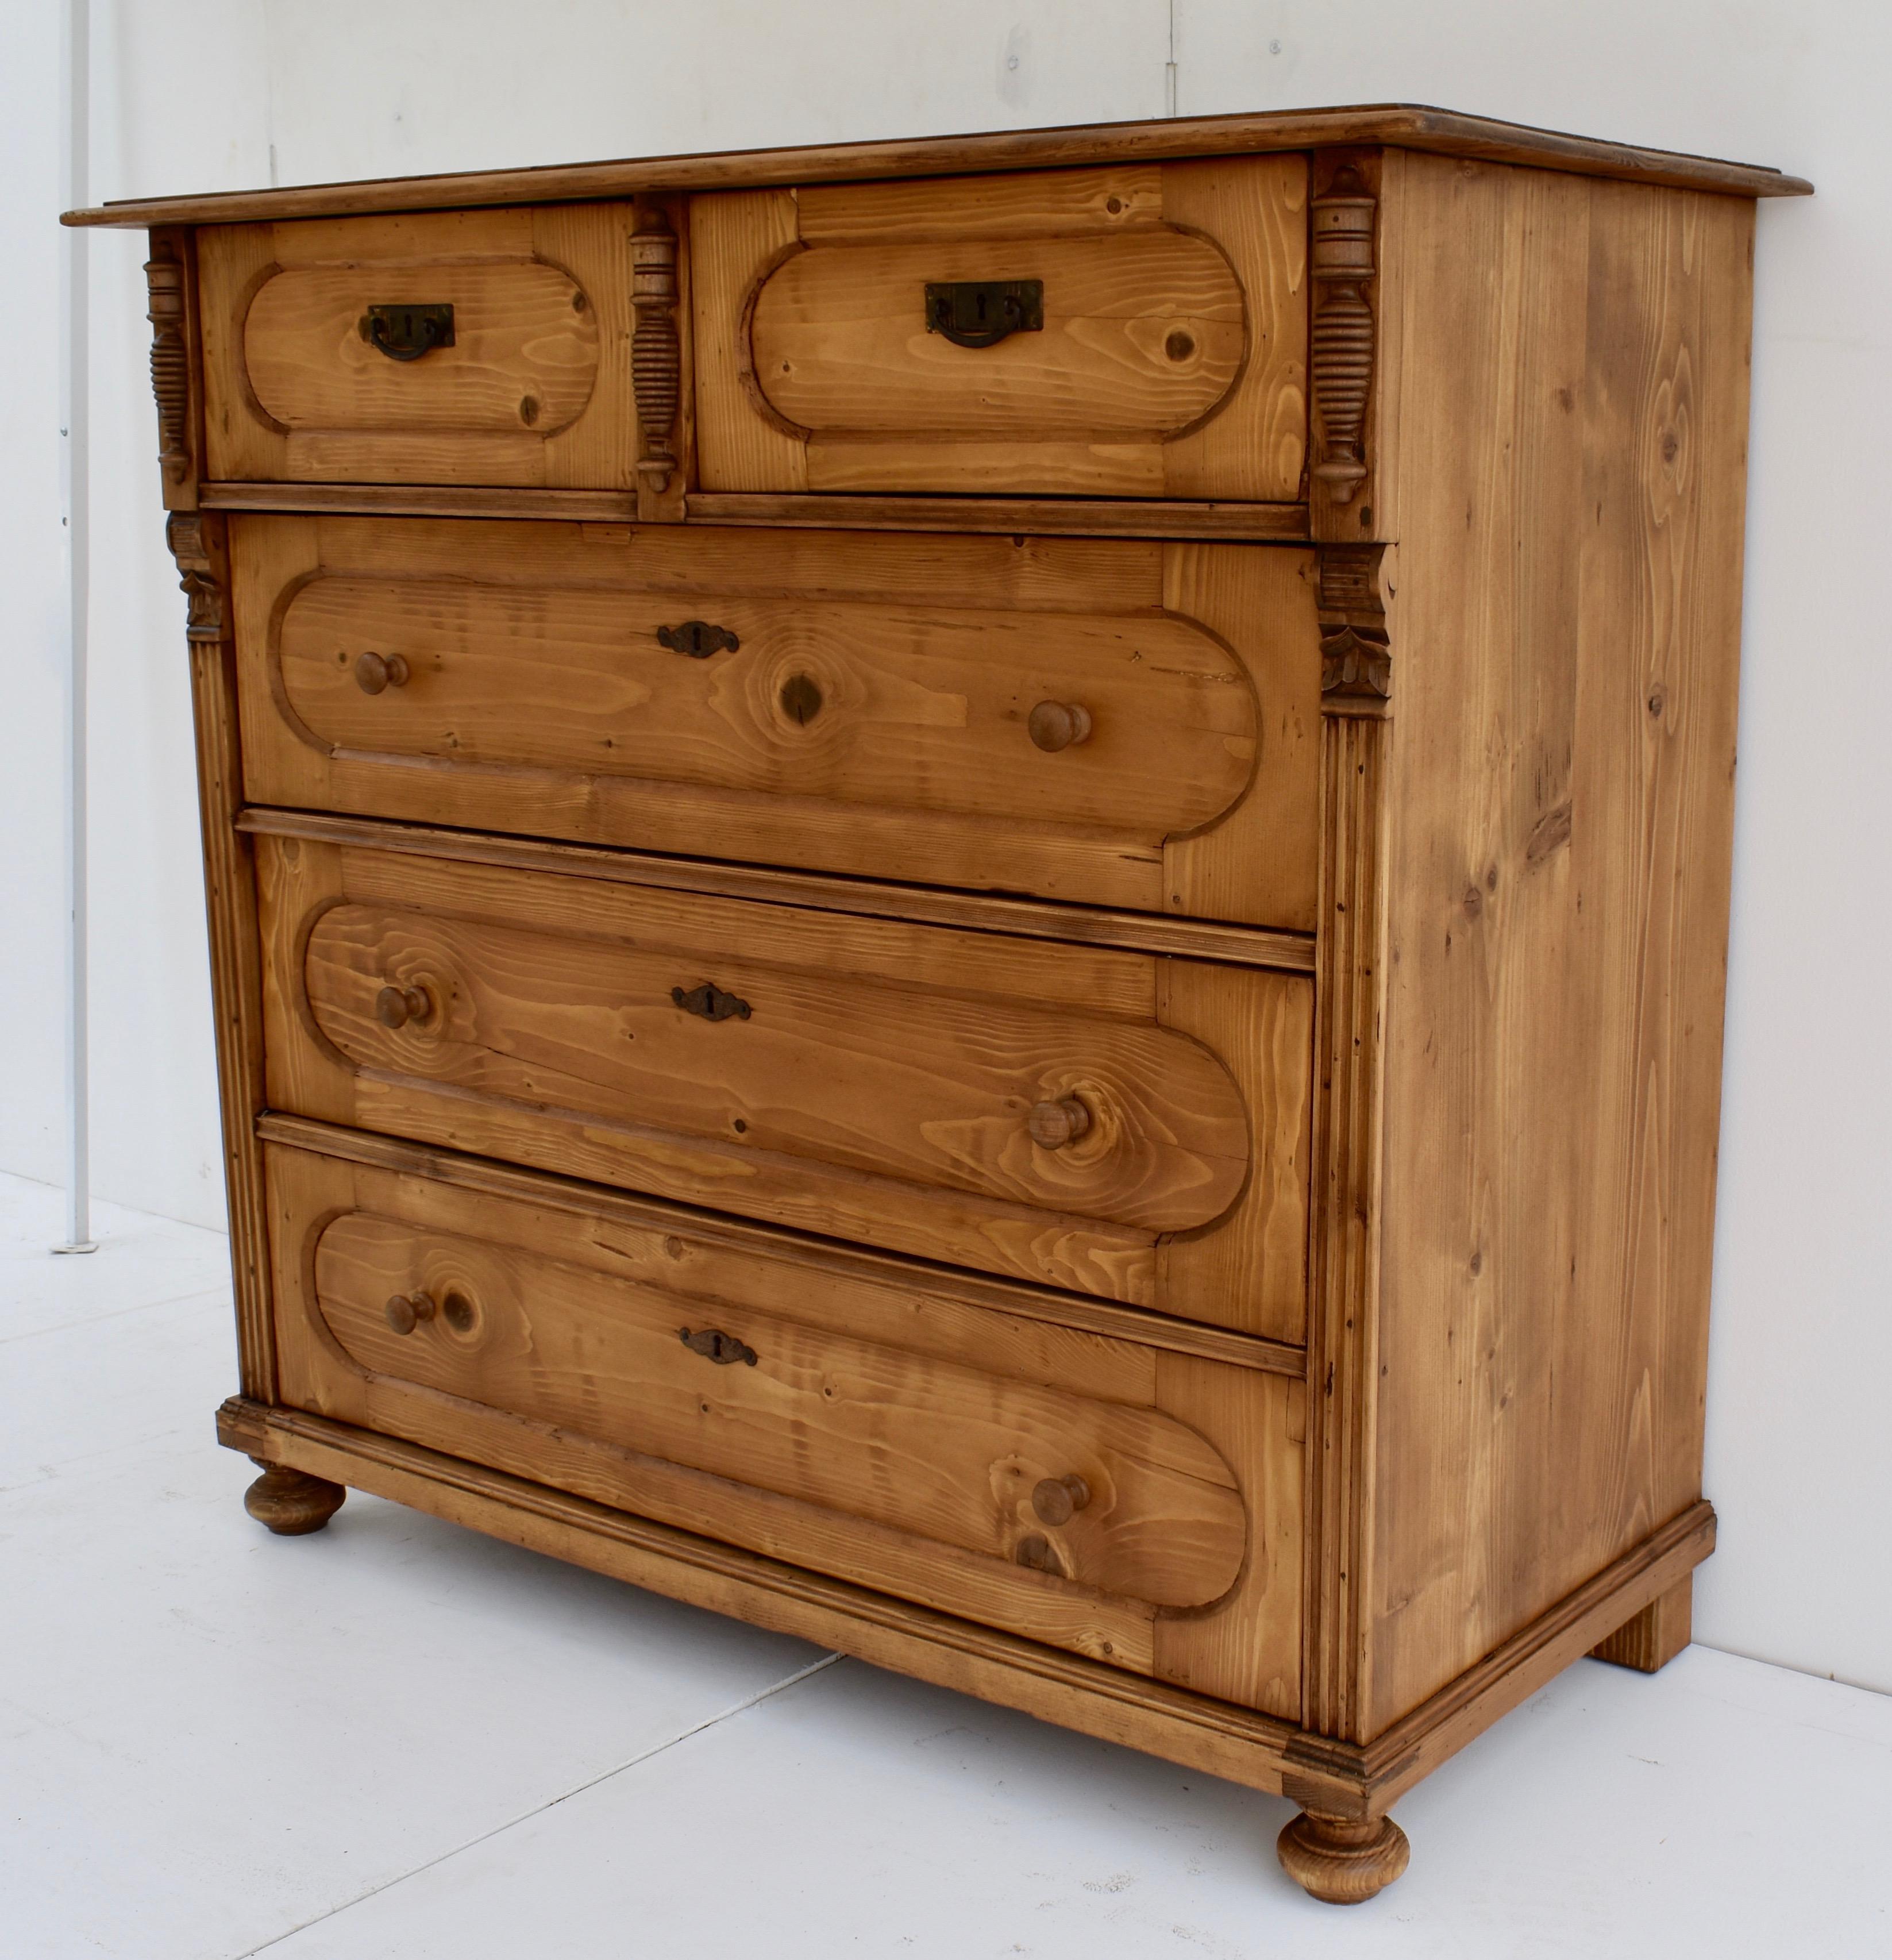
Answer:
[[(84, 204), (92, 129), (90, 0), (65, 0), (65, 171), (67, 210)], [(92, 1123), (86, 1027), (86, 598), (90, 584), (86, 394), (90, 345), (86, 233), (65, 233), (65, 361), (61, 368), (61, 474), (67, 535), (67, 1239), (55, 1252), (92, 1252)]]

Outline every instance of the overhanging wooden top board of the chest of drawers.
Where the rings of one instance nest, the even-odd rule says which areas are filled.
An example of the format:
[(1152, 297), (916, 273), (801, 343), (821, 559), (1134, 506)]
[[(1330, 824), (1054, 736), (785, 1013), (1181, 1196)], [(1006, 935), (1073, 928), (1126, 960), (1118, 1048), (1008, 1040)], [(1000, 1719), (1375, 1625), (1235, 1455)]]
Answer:
[(1429, 149), (1482, 163), (1521, 163), (1584, 176), (1616, 176), (1741, 198), (1812, 192), (1800, 176), (1751, 163), (1719, 163), (1665, 149), (1596, 143), (1484, 116), (1414, 104), (1280, 110), (1257, 116), (1190, 116), (1169, 122), (1090, 123), (1069, 129), (996, 129), (892, 143), (818, 143), (802, 149), (737, 149), (704, 157), (627, 157), (529, 171), (463, 171), (388, 176), (359, 184), (294, 184), (196, 198), (127, 198), (67, 212), (69, 225), (206, 225), (359, 212), (439, 212), (480, 204), (574, 204), (657, 190), (739, 190), (763, 184), (833, 184), (874, 176), (967, 176), (980, 171), (1049, 171), (1061, 165), (1159, 163), (1176, 157), (1265, 155), (1335, 143)]

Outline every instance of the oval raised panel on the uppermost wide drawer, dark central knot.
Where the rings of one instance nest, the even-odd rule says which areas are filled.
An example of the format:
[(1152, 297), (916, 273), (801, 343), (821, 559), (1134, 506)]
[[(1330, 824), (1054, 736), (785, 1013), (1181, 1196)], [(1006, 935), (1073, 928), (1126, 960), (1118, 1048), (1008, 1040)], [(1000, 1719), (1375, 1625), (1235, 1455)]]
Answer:
[[(667, 594), (318, 576), (282, 615), (282, 690), (351, 757), (1029, 817), (1145, 845), (1249, 784), (1255, 690), (1188, 619), (739, 590), (692, 608), (722, 635), (694, 659), (665, 639), (680, 612)], [(363, 655), (390, 649), (404, 686), (365, 692)], [(1088, 729), (1053, 760), (1029, 717), (1063, 700)]]

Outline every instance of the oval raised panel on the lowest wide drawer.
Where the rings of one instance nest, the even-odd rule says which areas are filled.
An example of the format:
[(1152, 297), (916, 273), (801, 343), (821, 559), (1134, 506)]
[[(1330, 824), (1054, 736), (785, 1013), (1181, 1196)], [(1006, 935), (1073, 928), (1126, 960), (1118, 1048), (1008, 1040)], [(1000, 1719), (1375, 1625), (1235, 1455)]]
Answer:
[[(322, 1227), (314, 1276), (341, 1350), (394, 1382), (1008, 1564), (1041, 1539), (1035, 1570), (1151, 1605), (1241, 1570), (1233, 1472), (1155, 1409), (359, 1211)], [(386, 1301), (416, 1294), (433, 1311), (400, 1333)], [(686, 1343), (706, 1315), (739, 1358)], [(1051, 1531), (1031, 1494), (1063, 1476), (1086, 1503)]]

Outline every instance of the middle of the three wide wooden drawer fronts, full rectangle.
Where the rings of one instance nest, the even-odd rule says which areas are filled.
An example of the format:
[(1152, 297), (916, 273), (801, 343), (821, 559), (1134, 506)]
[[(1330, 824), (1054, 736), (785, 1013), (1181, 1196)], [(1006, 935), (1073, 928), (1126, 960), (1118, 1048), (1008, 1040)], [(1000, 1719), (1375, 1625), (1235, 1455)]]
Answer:
[(274, 1107), (1298, 1339), (1306, 978), (259, 839)]

